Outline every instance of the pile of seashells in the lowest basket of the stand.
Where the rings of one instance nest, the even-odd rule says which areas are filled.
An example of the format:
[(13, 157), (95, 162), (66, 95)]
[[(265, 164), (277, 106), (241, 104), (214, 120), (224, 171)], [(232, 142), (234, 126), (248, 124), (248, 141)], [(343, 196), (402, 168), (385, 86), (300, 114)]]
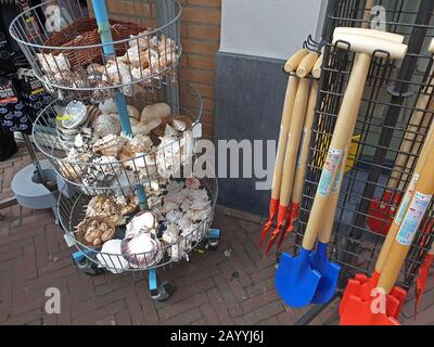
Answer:
[[(148, 188), (150, 210), (140, 211), (129, 220), (123, 239), (103, 243), (97, 259), (110, 271), (120, 273), (128, 269), (153, 267), (165, 254), (174, 261), (188, 260), (188, 253), (204, 237), (206, 228), (202, 222), (212, 213), (208, 192), (194, 177), (181, 182), (167, 182), (165, 189), (158, 189), (157, 182)], [(106, 208), (103, 214), (107, 221), (125, 224), (127, 221), (125, 214), (118, 209), (118, 200), (93, 197), (87, 206), (87, 218)], [(128, 202), (131, 203), (130, 200)], [(137, 207), (136, 203), (131, 206)], [(115, 214), (108, 207), (111, 204), (115, 205)]]

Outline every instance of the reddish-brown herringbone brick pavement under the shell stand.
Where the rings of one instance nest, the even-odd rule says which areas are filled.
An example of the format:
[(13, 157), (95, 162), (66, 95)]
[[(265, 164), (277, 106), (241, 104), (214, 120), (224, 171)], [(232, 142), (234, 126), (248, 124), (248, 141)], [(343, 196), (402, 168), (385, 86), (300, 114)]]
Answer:
[[(0, 163), (2, 197), (10, 195), (8, 182), (28, 162), (21, 150)], [(194, 253), (189, 264), (158, 271), (178, 290), (166, 303), (156, 303), (140, 274), (80, 272), (51, 210), (14, 206), (1, 214), (0, 324), (293, 324), (307, 311), (291, 309), (279, 299), (272, 284), (273, 259), (263, 258), (254, 244), (261, 222), (256, 216), (218, 207), (214, 222), (222, 230), (218, 249)], [(433, 282), (417, 320), (409, 295), (403, 323), (434, 323)], [(44, 312), (48, 287), (61, 291), (61, 314)], [(335, 324), (337, 305), (311, 324)]]

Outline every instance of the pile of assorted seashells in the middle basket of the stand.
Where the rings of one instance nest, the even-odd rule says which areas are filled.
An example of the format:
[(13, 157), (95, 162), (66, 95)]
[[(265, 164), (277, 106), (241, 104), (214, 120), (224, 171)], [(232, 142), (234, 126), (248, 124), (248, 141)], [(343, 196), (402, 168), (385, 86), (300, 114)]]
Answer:
[[(142, 111), (128, 105), (127, 111), (132, 137), (122, 133), (113, 100), (98, 107), (80, 101), (67, 104), (56, 119), (58, 138), (66, 154), (59, 165), (64, 177), (88, 188), (111, 188), (116, 177), (120, 181), (113, 184), (128, 185), (130, 175), (140, 179), (169, 176), (171, 169), (180, 167), (179, 160), (188, 158), (180, 155), (181, 151), (192, 147), (191, 124), (174, 117), (166, 103)], [(163, 137), (156, 136), (153, 131), (162, 125)]]

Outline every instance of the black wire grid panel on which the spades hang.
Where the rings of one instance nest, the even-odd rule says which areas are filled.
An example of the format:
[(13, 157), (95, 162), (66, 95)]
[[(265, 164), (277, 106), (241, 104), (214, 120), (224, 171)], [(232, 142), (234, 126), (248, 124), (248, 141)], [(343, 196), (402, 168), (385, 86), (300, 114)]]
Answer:
[[(416, 12), (404, 11), (404, 7), (398, 7), (398, 2), (403, 1), (396, 1), (395, 7), (387, 12), (387, 16), (396, 20), (405, 17), (406, 22), (403, 24), (388, 22), (387, 29), (406, 35), (407, 41), (408, 34), (412, 29), (411, 23), (413, 22), (411, 21), (414, 21)], [(360, 7), (357, 7), (357, 4)], [(336, 26), (359, 26), (361, 20), (350, 18), (355, 15), (360, 18), (365, 13), (363, 5), (365, 1), (332, 1), (329, 7), (324, 30), (326, 41), (331, 42), (333, 29)], [(431, 26), (426, 27), (424, 47), (426, 47), (432, 34), (433, 28)], [(426, 52), (426, 50), (421, 52)], [(367, 210), (360, 209), (361, 203), (369, 205), (374, 202), (374, 198), (381, 200), (392, 174), (398, 180), (398, 187), (400, 187), (395, 190), (396, 193), (404, 194), (432, 121), (433, 111), (429, 106), (432, 99), (430, 88), (433, 87), (433, 80), (430, 76), (432, 56), (427, 53), (413, 55), (417, 60), (417, 69), (411, 79), (406, 81), (397, 79), (399, 63), (387, 59), (374, 57), (370, 66), (353, 139), (353, 145), (356, 146), (356, 151), (355, 155), (349, 155), (348, 157), (348, 160), (354, 166), (344, 177), (333, 227), (334, 236), (332, 239), (332, 247), (330, 247), (332, 259), (342, 266), (342, 285), (346, 285), (346, 280), (356, 272), (368, 274), (372, 272), (384, 241), (384, 235), (373, 232), (367, 226), (369, 214)], [(319, 100), (314, 123), (299, 228), (295, 236), (295, 252), (303, 241), (309, 210), (321, 176), (322, 163), (327, 156), (354, 56), (354, 53), (346, 50), (331, 51), (330, 44), (327, 44), (324, 49), (323, 76), (320, 81)], [(390, 90), (391, 86), (396, 86), (399, 82), (408, 85), (409, 93), (403, 98), (403, 104), (397, 105), (391, 103)], [(363, 88), (363, 86), (360, 85), (360, 88)], [(418, 100), (424, 94), (427, 95), (426, 104), (420, 108)], [(395, 111), (398, 110), (396, 124), (384, 125), (384, 114), (388, 107), (395, 107)], [(416, 131), (411, 137), (410, 151), (404, 152), (400, 150), (400, 145), (410, 124), (410, 117), (416, 111), (423, 113), (423, 117), (420, 123), (411, 124), (413, 126), (412, 129), (416, 129)], [(379, 144), (380, 139), (384, 136), (384, 129), (388, 129), (393, 133), (387, 146)], [(373, 158), (379, 152), (382, 152), (385, 158), (381, 163), (373, 164)], [(406, 165), (394, 167), (394, 162), (399, 154), (406, 155)], [(372, 170), (380, 171), (379, 178), (376, 181), (368, 182), (368, 174)], [(373, 188), (373, 196), (363, 196), (367, 184)], [(391, 205), (390, 207), (392, 208), (393, 206)], [(387, 223), (385, 219), (381, 222)], [(432, 223), (433, 206), (431, 205), (427, 216), (421, 223), (411, 245), (399, 278), (399, 284), (407, 290), (416, 280), (417, 270), (433, 242)]]

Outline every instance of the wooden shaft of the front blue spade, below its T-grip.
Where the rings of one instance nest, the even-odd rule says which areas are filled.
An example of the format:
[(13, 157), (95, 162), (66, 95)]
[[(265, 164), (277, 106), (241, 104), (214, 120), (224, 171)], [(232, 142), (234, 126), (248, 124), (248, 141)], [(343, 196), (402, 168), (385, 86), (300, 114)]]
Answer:
[(352, 75), (345, 95), (342, 101), (341, 111), (337, 115), (336, 125), (333, 131), (332, 142), (329, 149), (329, 155), (322, 169), (321, 179), (317, 189), (314, 205), (310, 209), (309, 221), (303, 239), (303, 247), (311, 250), (322, 227), (324, 216), (329, 213), (329, 195), (334, 179), (339, 160), (344, 155), (344, 150), (348, 143), (348, 138), (353, 134), (356, 124), (358, 110), (360, 107), (363, 88), (360, 85), (366, 81), (371, 57), (366, 53), (356, 54)]

